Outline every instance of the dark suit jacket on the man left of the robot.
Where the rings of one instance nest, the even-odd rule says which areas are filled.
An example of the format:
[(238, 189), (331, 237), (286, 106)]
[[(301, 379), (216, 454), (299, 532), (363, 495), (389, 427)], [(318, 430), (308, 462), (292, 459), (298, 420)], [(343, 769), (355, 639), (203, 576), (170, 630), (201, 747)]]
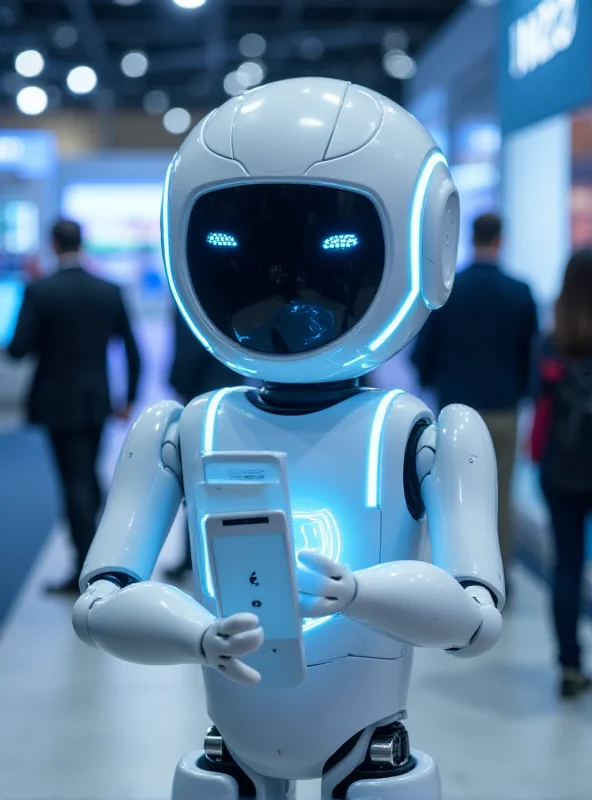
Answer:
[(140, 356), (119, 287), (81, 267), (27, 287), (8, 352), (38, 359), (28, 400), (31, 423), (77, 428), (105, 421), (111, 413), (107, 346), (115, 337), (125, 345), (132, 403)]

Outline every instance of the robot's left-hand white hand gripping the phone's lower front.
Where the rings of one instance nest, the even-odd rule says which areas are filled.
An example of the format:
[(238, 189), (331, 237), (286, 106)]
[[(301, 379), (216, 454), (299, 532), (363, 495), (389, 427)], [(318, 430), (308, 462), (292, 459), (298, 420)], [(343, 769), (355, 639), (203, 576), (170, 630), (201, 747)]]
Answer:
[(257, 686), (261, 675), (238, 660), (254, 653), (263, 644), (263, 628), (255, 614), (234, 614), (217, 619), (204, 634), (202, 650), (208, 666), (229, 680), (245, 686)]

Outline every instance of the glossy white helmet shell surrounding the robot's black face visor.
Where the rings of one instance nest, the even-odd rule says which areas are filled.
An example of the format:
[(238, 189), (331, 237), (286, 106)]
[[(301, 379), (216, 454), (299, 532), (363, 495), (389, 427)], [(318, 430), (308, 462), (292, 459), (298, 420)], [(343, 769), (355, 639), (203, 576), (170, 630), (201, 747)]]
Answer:
[[(441, 279), (442, 265), (424, 258), (424, 234), (445, 225), (438, 219), (445, 213), (441, 192), (430, 187), (434, 176), (446, 175), (425, 128), (368, 89), (294, 79), (233, 98), (189, 134), (167, 174), (163, 254), (173, 296), (202, 344), (247, 377), (316, 383), (362, 375), (404, 347), (428, 316), (422, 285), (434, 270)], [(382, 283), (360, 322), (337, 342), (282, 357), (246, 350), (214, 327), (193, 291), (185, 248), (187, 217), (199, 195), (274, 181), (366, 195), (380, 215), (386, 249)]]

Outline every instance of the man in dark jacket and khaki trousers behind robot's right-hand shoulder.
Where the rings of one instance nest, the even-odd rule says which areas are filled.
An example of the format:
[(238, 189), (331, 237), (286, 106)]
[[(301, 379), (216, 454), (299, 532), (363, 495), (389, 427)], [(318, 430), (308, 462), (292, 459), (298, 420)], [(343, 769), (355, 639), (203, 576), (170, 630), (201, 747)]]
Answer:
[[(489, 428), (498, 465), (499, 535), (507, 573), (518, 406), (532, 388), (538, 318), (527, 284), (500, 268), (502, 222), (497, 214), (475, 219), (473, 246), (473, 264), (457, 276), (448, 303), (420, 331), (411, 360), (421, 385), (436, 393), (441, 408), (470, 406)], [(507, 594), (510, 588), (506, 579)]]

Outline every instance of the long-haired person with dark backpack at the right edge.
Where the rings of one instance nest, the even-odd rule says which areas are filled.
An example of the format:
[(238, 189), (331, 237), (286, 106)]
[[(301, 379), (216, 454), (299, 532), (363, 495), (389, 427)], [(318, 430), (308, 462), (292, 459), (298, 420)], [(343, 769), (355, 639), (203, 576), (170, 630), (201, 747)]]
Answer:
[(592, 687), (582, 671), (578, 621), (585, 521), (592, 511), (592, 250), (574, 253), (555, 306), (555, 329), (541, 348), (532, 456), (555, 542), (553, 621), (560, 693)]

